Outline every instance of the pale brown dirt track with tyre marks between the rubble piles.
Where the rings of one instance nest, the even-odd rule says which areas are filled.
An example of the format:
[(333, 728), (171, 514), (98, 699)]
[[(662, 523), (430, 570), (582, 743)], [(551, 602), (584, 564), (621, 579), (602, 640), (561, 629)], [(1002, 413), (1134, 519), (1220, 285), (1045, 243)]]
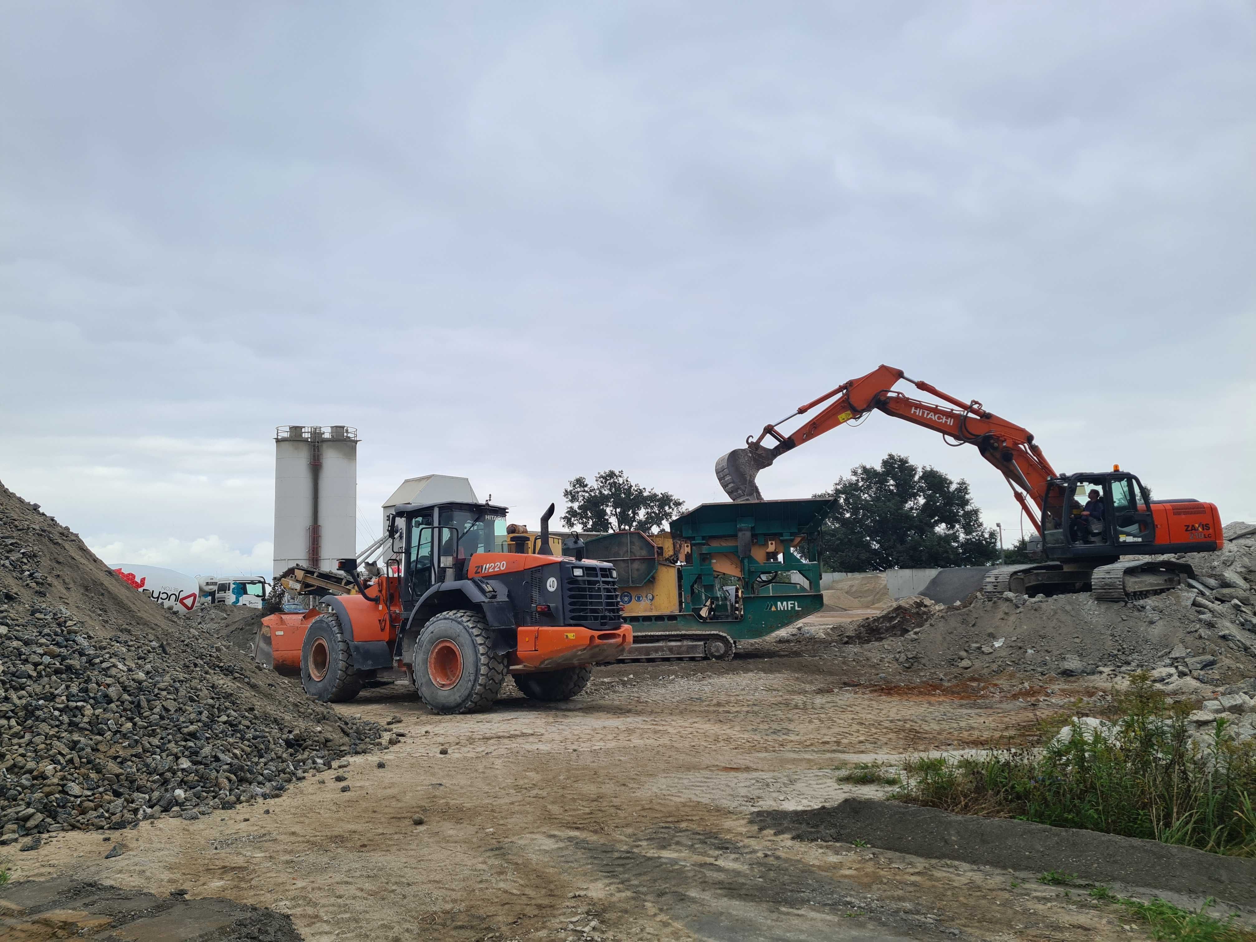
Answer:
[[(1006, 872), (750, 826), (751, 810), (878, 793), (834, 766), (980, 745), (1034, 718), (1015, 690), (842, 681), (838, 661), (808, 657), (625, 664), (569, 703), (507, 686), (494, 711), (458, 717), (386, 688), (344, 710), (401, 717), (391, 728), (407, 735), (335, 770), (347, 793), (329, 774), (210, 820), (63, 834), (10, 865), (15, 879), (69, 872), (270, 906), (315, 942), (1130, 938), (1110, 912)], [(126, 853), (106, 860), (118, 838)]]

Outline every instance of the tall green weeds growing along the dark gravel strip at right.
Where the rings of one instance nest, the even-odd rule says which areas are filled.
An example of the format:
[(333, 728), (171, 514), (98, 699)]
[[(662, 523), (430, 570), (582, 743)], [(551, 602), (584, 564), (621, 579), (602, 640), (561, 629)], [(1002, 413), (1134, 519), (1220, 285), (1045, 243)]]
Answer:
[(1189, 705), (1169, 703), (1145, 673), (1130, 679), (1113, 693), (1118, 718), (1108, 736), (1074, 722), (1068, 741), (1045, 749), (917, 759), (894, 798), (1256, 857), (1256, 742), (1235, 744), (1218, 717), (1201, 749), (1186, 722)]

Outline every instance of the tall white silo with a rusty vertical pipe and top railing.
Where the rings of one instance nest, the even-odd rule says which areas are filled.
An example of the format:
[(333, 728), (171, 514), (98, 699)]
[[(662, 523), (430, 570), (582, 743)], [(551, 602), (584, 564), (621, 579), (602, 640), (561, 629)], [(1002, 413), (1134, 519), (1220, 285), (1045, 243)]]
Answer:
[(334, 569), (357, 551), (358, 431), (275, 430), (274, 574), (294, 565)]

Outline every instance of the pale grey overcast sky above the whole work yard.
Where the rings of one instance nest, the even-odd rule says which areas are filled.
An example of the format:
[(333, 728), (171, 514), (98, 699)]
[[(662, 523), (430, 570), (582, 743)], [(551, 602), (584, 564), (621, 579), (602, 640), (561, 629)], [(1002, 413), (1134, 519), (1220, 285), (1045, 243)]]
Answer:
[[(721, 500), (879, 363), (1256, 519), (1250, 4), (38, 0), (0, 87), (0, 481), (109, 561), (269, 573), (288, 423), (363, 543), (430, 472)], [(882, 414), (760, 484), (888, 451), (1020, 533)]]

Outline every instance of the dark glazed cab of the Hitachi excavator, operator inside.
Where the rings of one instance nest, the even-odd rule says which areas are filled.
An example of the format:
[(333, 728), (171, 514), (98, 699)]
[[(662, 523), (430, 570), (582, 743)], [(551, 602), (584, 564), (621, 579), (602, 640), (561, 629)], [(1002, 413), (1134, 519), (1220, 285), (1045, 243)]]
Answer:
[(1140, 553), (1153, 543), (1150, 496), (1134, 475), (1110, 471), (1048, 482), (1042, 544), (1049, 559)]

